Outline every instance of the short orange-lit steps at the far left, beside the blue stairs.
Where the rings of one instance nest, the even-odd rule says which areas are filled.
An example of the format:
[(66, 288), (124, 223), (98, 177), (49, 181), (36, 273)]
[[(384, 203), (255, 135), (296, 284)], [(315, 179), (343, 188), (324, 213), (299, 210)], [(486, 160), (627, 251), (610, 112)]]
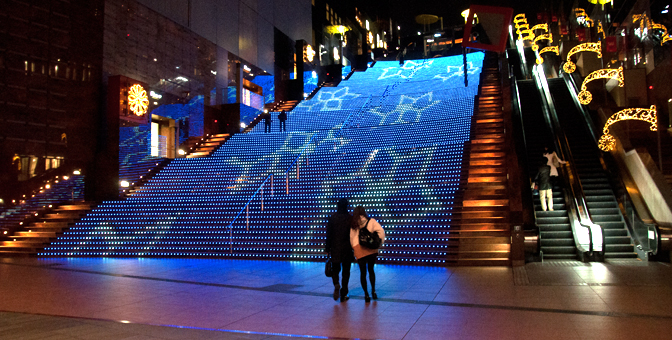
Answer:
[(61, 205), (42, 216), (36, 214), (34, 221), (24, 224), (21, 231), (9, 235), (9, 240), (0, 244), (0, 257), (36, 256), (38, 251), (63, 234), (94, 206), (91, 202), (76, 202)]

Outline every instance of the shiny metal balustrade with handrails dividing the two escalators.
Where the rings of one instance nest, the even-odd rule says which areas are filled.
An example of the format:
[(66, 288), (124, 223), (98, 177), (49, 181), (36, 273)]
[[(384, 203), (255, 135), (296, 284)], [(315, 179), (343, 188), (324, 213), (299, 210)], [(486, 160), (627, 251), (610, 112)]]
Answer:
[[(536, 68), (536, 66), (535, 69), (540, 70), (539, 73), (543, 72), (543, 69)], [(553, 131), (553, 135), (555, 136), (555, 147), (560, 153), (560, 157), (569, 163), (566, 167), (561, 168), (560, 171), (563, 173), (563, 181), (565, 181), (567, 184), (565, 187), (568, 188), (571, 193), (571, 195), (568, 196), (570, 197), (570, 201), (573, 203), (573, 208), (576, 209), (575, 213), (578, 217), (578, 222), (581, 226), (588, 229), (590, 240), (589, 249), (587, 250), (590, 252), (604, 254), (604, 230), (600, 225), (593, 223), (592, 219), (590, 218), (583, 186), (578, 180), (576, 163), (572, 157), (567, 136), (565, 135), (564, 130), (560, 125), (560, 120), (558, 119), (555, 103), (553, 101), (553, 97), (550, 94), (548, 83), (539, 79), (540, 76), (537, 74), (537, 72), (533, 73), (535, 83), (537, 83), (537, 86), (542, 90), (543, 93), (542, 102), (546, 104), (543, 105), (543, 111), (546, 115), (545, 118), (551, 128), (551, 131)], [(579, 242), (577, 242), (577, 244), (578, 243)]]

